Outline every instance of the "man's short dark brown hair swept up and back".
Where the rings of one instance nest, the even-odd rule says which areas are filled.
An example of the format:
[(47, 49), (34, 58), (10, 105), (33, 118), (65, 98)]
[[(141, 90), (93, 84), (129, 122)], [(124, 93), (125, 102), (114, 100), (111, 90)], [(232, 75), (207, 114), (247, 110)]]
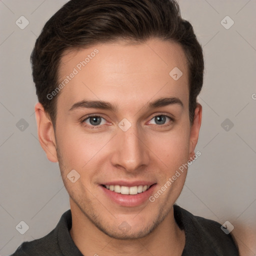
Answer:
[(203, 53), (192, 25), (181, 18), (175, 0), (70, 0), (44, 25), (31, 53), (38, 101), (55, 126), (56, 99), (47, 95), (58, 85), (63, 52), (96, 43), (124, 39), (142, 43), (149, 38), (179, 43), (189, 70), (189, 120), (203, 82)]

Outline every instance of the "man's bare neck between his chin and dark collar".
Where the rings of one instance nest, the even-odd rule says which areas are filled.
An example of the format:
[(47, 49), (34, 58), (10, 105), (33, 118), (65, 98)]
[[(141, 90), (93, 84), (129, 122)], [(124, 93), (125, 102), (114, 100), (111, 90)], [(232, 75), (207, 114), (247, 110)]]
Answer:
[(180, 256), (185, 245), (184, 230), (175, 222), (173, 207), (163, 221), (148, 235), (139, 239), (120, 240), (99, 230), (76, 206), (70, 202), (72, 227), (70, 235), (83, 255), (95, 256)]

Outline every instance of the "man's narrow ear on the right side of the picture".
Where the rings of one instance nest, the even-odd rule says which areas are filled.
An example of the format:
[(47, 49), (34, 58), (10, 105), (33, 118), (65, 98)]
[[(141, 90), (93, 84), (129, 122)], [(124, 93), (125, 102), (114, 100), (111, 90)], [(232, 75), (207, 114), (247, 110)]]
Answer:
[(194, 148), (197, 144), (199, 130), (201, 126), (202, 119), (202, 106), (197, 103), (194, 110), (194, 119), (190, 128), (190, 137), (189, 137), (189, 160), (192, 160), (194, 157)]

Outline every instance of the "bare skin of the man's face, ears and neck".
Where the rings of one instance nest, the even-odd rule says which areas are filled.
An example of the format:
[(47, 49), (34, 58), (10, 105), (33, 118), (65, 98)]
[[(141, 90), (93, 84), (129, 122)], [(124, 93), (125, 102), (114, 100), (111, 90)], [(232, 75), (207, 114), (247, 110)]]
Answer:
[[(179, 44), (157, 38), (137, 45), (123, 41), (97, 44), (66, 52), (59, 80), (95, 48), (99, 51), (95, 57), (59, 92), (55, 131), (42, 105), (35, 106), (40, 144), (50, 161), (59, 162), (70, 196), (70, 235), (84, 255), (181, 255), (185, 234), (175, 222), (173, 204), (183, 188), (186, 170), (154, 202), (146, 200), (133, 207), (113, 202), (100, 184), (153, 181), (154, 194), (195, 154), (202, 110), (197, 104), (190, 124), (184, 51)], [(173, 67), (183, 73), (176, 81), (169, 75)], [(148, 101), (163, 97), (177, 97), (183, 107), (147, 107)], [(83, 99), (104, 100), (118, 110), (69, 110)], [(104, 119), (95, 128), (89, 119), (83, 121), (88, 114)], [(174, 120), (166, 117), (159, 124), (154, 118), (159, 115)], [(131, 124), (126, 131), (118, 127), (123, 118)], [(72, 169), (80, 174), (74, 183), (66, 177)], [(126, 230), (118, 228), (123, 221), (129, 225)]]

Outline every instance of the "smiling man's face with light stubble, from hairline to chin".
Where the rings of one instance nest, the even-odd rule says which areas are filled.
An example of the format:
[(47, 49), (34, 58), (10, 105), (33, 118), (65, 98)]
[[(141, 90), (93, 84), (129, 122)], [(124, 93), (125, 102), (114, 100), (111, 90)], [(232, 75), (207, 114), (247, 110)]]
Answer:
[[(197, 141), (184, 52), (159, 39), (118, 41), (61, 60), (59, 80), (69, 78), (58, 92), (53, 140), (70, 203), (111, 237), (143, 237), (172, 209), (186, 170), (172, 176)], [(174, 67), (178, 79), (169, 75)]]

